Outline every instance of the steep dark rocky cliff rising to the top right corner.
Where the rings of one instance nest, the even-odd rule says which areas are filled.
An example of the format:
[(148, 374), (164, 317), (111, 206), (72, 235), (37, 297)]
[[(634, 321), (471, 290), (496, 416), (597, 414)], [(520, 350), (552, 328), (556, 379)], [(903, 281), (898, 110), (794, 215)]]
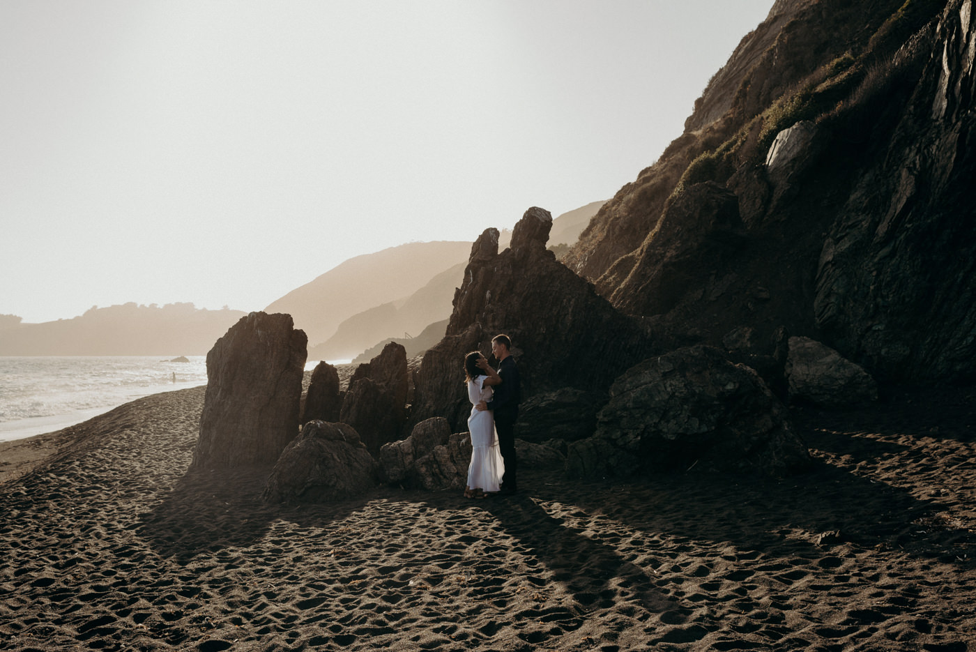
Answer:
[(970, 3), (777, 2), (563, 262), (672, 342), (970, 377)]

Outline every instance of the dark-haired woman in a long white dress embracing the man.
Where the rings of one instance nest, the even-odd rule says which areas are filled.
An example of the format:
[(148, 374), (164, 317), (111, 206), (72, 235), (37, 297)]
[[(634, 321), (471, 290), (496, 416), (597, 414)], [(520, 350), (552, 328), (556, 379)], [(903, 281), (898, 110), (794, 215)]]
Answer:
[(486, 498), (487, 494), (499, 490), (502, 474), (505, 473), (505, 463), (502, 462), (498, 437), (495, 436), (495, 416), (490, 410), (479, 411), (474, 406), (479, 401), (490, 401), (492, 387), (500, 384), (502, 379), (478, 351), (465, 356), (465, 377), (468, 383), (468, 400), (471, 402), (471, 416), (468, 417), (471, 463), (468, 465), (465, 498)]

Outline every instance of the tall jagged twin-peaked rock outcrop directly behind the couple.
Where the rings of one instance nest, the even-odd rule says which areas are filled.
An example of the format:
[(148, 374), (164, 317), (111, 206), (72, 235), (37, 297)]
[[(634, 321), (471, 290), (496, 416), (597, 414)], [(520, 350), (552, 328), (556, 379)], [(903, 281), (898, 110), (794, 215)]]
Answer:
[(414, 421), (443, 416), (452, 429), (467, 429), (464, 356), (474, 349), (488, 354), (499, 333), (512, 340), (526, 401), (564, 387), (605, 392), (650, 349), (639, 321), (610, 306), (547, 251), (550, 225), (547, 211), (532, 208), (515, 225), (506, 251), (498, 252), (494, 228), (471, 247), (446, 335), (427, 350), (415, 377)]

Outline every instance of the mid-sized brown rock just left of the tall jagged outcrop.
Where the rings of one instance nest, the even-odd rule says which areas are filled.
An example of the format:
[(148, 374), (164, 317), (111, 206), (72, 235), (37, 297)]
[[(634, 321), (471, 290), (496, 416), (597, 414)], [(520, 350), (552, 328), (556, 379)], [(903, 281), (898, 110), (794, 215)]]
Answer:
[(379, 355), (356, 368), (349, 379), (339, 420), (362, 438), (376, 456), (381, 447), (400, 438), (407, 417), (407, 355), (390, 343)]

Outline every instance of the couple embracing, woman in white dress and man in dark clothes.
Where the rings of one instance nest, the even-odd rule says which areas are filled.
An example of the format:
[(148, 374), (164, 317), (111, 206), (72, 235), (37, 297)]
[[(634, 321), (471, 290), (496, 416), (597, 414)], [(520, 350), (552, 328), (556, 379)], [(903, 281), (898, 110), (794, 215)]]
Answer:
[(466, 498), (486, 498), (495, 493), (511, 495), (518, 488), (514, 428), (521, 387), (510, 348), (508, 336), (492, 338), (491, 352), (498, 360), (498, 371), (492, 369), (479, 351), (465, 356), (468, 399), (472, 406), (468, 417), (471, 463)]

